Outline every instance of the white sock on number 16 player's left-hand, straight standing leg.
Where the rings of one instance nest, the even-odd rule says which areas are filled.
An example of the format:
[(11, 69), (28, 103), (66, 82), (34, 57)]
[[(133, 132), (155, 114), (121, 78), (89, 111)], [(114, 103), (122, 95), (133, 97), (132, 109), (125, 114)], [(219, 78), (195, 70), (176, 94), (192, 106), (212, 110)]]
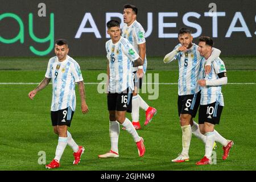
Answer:
[(109, 137), (111, 142), (111, 150), (118, 154), (118, 137), (119, 137), (119, 122), (109, 121)]

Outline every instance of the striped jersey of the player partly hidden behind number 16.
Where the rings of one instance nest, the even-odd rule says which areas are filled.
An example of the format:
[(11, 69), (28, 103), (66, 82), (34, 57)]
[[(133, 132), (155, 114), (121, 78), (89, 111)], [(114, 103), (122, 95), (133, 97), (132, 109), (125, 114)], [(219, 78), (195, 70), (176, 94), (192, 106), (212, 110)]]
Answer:
[[(129, 27), (126, 23), (122, 27), (122, 37), (129, 40), (129, 42), (133, 45), (135, 51), (139, 53), (138, 44), (146, 43), (145, 39), (145, 31), (142, 27), (141, 23), (135, 20)], [(137, 71), (138, 67), (134, 67), (133, 71)], [(143, 64), (143, 72), (146, 73), (147, 70), (147, 57), (145, 55), (144, 64)]]

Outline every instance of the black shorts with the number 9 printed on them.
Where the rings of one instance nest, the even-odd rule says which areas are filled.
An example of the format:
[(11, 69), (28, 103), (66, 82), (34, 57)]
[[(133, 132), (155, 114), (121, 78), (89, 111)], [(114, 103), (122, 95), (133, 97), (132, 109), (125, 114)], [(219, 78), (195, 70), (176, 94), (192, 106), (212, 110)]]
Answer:
[(57, 111), (51, 111), (52, 126), (67, 125), (70, 127), (74, 113), (75, 111), (72, 111), (71, 107)]

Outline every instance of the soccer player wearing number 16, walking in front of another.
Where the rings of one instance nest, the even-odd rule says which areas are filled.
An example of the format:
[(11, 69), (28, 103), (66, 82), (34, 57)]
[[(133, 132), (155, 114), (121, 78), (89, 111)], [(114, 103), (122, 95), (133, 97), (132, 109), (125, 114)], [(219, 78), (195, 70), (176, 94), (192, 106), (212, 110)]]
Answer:
[(106, 154), (98, 155), (99, 158), (118, 158), (119, 123), (133, 136), (137, 144), (139, 156), (146, 151), (143, 138), (139, 137), (133, 124), (126, 118), (126, 111), (131, 113), (131, 99), (133, 97), (133, 67), (142, 65), (142, 59), (135, 52), (133, 46), (121, 37), (120, 24), (110, 20), (106, 26), (110, 40), (106, 42), (108, 58), (108, 110), (109, 110), (109, 135), (111, 150)]

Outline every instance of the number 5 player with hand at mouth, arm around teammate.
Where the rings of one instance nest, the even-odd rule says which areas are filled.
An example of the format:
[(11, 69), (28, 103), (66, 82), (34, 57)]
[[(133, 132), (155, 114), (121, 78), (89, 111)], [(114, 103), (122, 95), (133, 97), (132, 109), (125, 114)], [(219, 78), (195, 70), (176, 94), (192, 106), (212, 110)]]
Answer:
[[(199, 125), (193, 121), (197, 109), (200, 105), (200, 88), (197, 84), (199, 78), (199, 69), (201, 56), (197, 50), (198, 46), (192, 43), (193, 36), (188, 28), (181, 28), (178, 33), (180, 44), (174, 50), (164, 57), (164, 63), (179, 61), (179, 80), (178, 80), (178, 114), (182, 130), (182, 147), (181, 154), (172, 162), (182, 163), (189, 161), (189, 146), (192, 133), (206, 142), (205, 135), (200, 133)], [(220, 55), (220, 50), (212, 48), (211, 55), (208, 58), (205, 72), (210, 71), (210, 62)], [(217, 132), (216, 132), (217, 133)]]

